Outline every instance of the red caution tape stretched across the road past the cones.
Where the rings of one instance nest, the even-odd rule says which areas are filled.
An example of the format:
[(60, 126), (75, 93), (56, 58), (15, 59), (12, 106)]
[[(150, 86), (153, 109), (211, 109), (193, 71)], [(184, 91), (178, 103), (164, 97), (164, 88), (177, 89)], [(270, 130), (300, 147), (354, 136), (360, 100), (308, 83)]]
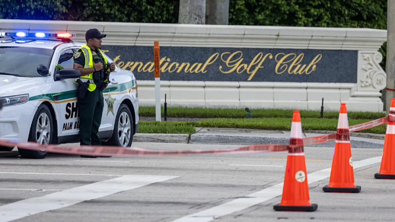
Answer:
[[(388, 121), (389, 117), (383, 117), (370, 122), (356, 124), (350, 126), (350, 132), (369, 129), (379, 126)], [(303, 138), (303, 145), (313, 145), (319, 143), (326, 143), (336, 139), (336, 133), (320, 135), (316, 137)], [(181, 154), (205, 154), (205, 153), (229, 153), (229, 152), (279, 152), (288, 151), (300, 145), (284, 145), (284, 144), (263, 144), (252, 145), (239, 148), (226, 148), (226, 149), (210, 149), (210, 150), (155, 150), (146, 148), (121, 148), (109, 146), (58, 146), (58, 145), (44, 145), (33, 142), (28, 143), (14, 143), (10, 141), (0, 140), (0, 146), (15, 147), (40, 150), (47, 152), (57, 152), (65, 154), (78, 154), (78, 155), (98, 155), (98, 156), (140, 156), (140, 155), (181, 155)]]

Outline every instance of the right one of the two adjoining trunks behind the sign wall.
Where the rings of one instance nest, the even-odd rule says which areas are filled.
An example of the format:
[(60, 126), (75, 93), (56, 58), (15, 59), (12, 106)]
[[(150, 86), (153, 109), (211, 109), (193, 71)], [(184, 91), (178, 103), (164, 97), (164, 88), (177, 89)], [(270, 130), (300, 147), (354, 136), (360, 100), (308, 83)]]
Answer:
[(229, 23), (229, 0), (207, 0), (206, 24), (228, 25)]

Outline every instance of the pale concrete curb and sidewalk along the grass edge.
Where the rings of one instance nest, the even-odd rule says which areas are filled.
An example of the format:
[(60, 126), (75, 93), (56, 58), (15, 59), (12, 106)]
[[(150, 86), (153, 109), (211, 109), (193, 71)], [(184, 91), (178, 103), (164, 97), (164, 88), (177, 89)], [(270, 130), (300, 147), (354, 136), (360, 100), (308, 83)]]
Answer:
[[(315, 137), (334, 131), (307, 131), (304, 137)], [(196, 128), (196, 133), (156, 134), (136, 133), (133, 142), (138, 143), (184, 143), (184, 144), (222, 144), (222, 145), (256, 145), (288, 144), (289, 131), (254, 130), (235, 128)], [(350, 133), (352, 148), (383, 148), (385, 134)], [(309, 147), (333, 147), (334, 141), (309, 145)]]

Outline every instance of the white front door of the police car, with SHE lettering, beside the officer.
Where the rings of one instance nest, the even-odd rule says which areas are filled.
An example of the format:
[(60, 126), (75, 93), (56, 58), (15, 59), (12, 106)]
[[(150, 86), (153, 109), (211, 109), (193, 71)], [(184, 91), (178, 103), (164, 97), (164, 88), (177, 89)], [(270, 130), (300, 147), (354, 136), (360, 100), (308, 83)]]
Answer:
[[(75, 49), (64, 49), (60, 52), (55, 73), (61, 69), (73, 69)], [(70, 138), (79, 133), (79, 115), (77, 106), (77, 84), (75, 78), (58, 80), (60, 115), (58, 119), (58, 136), (62, 141), (73, 140)]]

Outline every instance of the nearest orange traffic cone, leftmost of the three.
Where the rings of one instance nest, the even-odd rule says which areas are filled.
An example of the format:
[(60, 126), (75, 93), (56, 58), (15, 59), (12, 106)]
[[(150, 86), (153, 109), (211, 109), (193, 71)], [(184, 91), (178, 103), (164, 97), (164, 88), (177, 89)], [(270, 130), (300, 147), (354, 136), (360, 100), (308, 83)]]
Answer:
[(288, 150), (281, 202), (275, 205), (274, 209), (276, 211), (315, 211), (317, 205), (311, 204), (309, 197), (299, 111), (293, 111), (289, 145), (298, 146), (292, 146)]

